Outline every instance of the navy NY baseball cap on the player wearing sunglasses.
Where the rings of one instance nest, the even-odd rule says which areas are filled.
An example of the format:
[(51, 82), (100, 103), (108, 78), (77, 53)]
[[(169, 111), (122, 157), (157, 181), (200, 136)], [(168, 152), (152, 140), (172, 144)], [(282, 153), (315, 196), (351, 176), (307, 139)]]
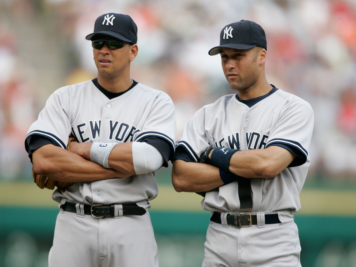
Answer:
[(108, 13), (95, 20), (94, 32), (85, 37), (94, 40), (95, 35), (108, 35), (130, 45), (137, 43), (137, 26), (129, 15)]

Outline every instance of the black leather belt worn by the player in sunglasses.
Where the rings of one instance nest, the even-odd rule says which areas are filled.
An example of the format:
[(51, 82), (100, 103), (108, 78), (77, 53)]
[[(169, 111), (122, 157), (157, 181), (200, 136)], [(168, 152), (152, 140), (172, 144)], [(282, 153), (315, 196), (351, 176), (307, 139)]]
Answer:
[[(73, 202), (66, 202), (61, 205), (62, 209), (70, 212), (77, 212)], [(122, 215), (143, 215), (146, 213), (146, 210), (140, 206), (137, 206), (136, 203), (122, 205)], [(115, 216), (115, 205), (87, 205), (84, 204), (84, 214), (92, 215), (95, 218), (100, 218), (103, 216)]]

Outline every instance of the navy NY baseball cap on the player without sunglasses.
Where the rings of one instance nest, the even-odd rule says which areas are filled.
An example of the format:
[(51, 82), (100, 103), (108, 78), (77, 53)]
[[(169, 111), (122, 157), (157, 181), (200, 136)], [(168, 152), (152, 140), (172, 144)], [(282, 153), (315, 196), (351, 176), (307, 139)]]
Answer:
[(263, 28), (256, 22), (241, 20), (226, 25), (220, 32), (220, 46), (209, 50), (209, 55), (220, 53), (221, 48), (250, 49), (255, 46), (267, 50), (266, 35)]

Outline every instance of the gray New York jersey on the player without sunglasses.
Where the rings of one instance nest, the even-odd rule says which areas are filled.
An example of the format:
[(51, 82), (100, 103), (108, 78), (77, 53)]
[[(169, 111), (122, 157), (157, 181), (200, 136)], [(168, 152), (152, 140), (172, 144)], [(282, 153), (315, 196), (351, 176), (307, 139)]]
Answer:
[[(251, 179), (251, 211), (295, 212), (300, 209), (299, 193), (310, 164), (313, 125), (309, 103), (276, 87), (249, 100), (240, 100), (237, 94), (225, 95), (198, 110), (187, 122), (177, 140), (174, 159), (197, 162), (210, 145), (240, 150), (286, 148), (297, 157), (277, 177)], [(220, 186), (206, 192), (201, 205), (209, 211), (239, 212), (237, 192), (237, 182)]]

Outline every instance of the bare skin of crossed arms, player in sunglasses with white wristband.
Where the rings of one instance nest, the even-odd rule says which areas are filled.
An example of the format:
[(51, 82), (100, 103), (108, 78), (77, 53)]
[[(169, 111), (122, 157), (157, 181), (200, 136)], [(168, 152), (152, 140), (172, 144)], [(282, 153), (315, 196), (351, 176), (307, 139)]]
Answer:
[(72, 142), (70, 151), (47, 144), (33, 151), (32, 163), (37, 174), (61, 182), (84, 182), (135, 175), (132, 142), (117, 144), (109, 155), (105, 168), (90, 161), (92, 143)]

